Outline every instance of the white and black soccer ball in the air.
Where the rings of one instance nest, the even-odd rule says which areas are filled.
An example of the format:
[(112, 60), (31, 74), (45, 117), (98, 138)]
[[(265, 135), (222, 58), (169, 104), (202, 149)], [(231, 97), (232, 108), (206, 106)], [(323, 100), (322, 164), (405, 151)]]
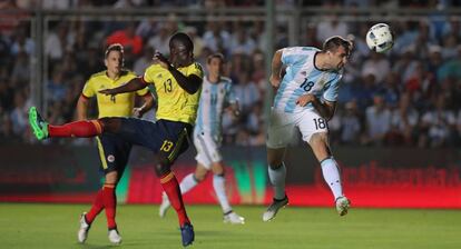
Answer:
[(386, 23), (377, 23), (366, 32), (366, 44), (372, 51), (385, 52), (394, 44), (394, 34)]

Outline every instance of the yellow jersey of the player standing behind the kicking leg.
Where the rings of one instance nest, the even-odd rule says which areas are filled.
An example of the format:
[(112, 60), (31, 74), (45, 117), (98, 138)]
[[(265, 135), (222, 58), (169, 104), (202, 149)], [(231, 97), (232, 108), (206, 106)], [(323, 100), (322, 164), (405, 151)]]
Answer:
[(122, 70), (120, 77), (112, 80), (107, 76), (107, 71), (101, 71), (92, 74), (85, 83), (81, 94), (85, 98), (92, 98), (96, 96), (98, 102), (98, 118), (105, 117), (130, 117), (133, 108), (135, 107), (135, 97), (145, 96), (149, 93), (148, 88), (140, 89), (136, 92), (126, 92), (116, 96), (107, 96), (99, 93), (102, 89), (119, 87), (131, 79), (136, 74), (131, 71)]

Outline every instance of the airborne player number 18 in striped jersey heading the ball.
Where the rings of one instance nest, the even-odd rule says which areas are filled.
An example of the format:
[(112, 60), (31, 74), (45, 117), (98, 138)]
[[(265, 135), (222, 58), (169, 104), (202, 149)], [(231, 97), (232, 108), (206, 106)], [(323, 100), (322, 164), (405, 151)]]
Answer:
[[(327, 121), (336, 109), (342, 69), (351, 50), (350, 41), (332, 37), (324, 42), (322, 50), (292, 47), (275, 52), (269, 81), (277, 88), (277, 93), (271, 110), (266, 141), (274, 200), (263, 213), (264, 221), (274, 219), (277, 211), (288, 203), (283, 160), (295, 127), (321, 163), (339, 215), (347, 213), (350, 201), (343, 193), (340, 170), (330, 149)], [(283, 66), (286, 67), (286, 73), (282, 78)]]

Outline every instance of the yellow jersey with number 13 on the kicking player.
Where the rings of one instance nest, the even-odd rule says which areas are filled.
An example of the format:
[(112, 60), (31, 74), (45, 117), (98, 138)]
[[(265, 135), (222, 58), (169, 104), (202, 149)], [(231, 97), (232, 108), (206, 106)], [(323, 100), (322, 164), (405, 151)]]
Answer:
[[(202, 66), (197, 62), (177, 70), (186, 77), (195, 74), (200, 79), (204, 78)], [(202, 87), (194, 94), (188, 93), (178, 84), (175, 77), (167, 69), (161, 68), (160, 64), (148, 67), (143, 80), (146, 83), (154, 84), (157, 92), (157, 120), (166, 119), (190, 124), (195, 123)]]

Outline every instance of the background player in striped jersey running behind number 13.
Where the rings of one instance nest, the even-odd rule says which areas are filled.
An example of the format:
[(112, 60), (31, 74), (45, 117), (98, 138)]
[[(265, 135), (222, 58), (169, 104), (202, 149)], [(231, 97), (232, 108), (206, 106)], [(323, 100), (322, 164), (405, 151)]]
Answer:
[[(213, 187), (223, 209), (224, 221), (244, 223), (245, 219), (233, 211), (227, 200), (223, 158), (219, 152), (222, 140), (222, 117), (226, 106), (238, 116), (238, 102), (232, 90), (229, 78), (223, 77), (224, 56), (214, 53), (207, 58), (208, 76), (204, 78), (200, 103), (194, 129), (194, 145), (197, 149), (197, 168), (180, 182), (182, 193), (186, 193), (203, 181), (209, 170), (213, 171)], [(165, 217), (170, 202), (164, 193), (159, 216)]]

